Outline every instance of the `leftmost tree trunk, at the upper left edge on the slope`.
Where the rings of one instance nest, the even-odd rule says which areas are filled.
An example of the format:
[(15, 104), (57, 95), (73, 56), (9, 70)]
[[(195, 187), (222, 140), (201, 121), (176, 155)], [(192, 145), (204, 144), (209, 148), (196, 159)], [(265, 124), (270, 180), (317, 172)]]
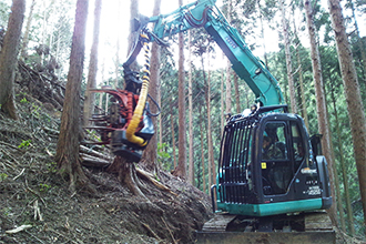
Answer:
[(12, 1), (8, 29), (0, 54), (0, 110), (13, 120), (18, 119), (13, 98), (13, 81), (24, 11), (24, 0)]

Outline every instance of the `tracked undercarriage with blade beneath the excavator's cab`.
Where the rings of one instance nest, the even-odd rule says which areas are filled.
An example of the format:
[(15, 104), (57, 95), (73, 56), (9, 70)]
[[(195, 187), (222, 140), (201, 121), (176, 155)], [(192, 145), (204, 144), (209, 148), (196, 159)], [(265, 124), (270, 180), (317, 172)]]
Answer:
[(216, 213), (197, 232), (197, 243), (335, 243), (325, 211), (251, 217)]

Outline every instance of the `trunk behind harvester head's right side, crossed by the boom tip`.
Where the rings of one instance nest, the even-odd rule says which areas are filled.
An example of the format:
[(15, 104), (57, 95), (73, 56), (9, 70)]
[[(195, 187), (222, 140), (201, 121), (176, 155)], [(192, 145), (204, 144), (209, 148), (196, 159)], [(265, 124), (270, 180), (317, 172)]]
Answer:
[[(155, 0), (154, 3), (154, 10), (153, 16), (160, 14), (160, 6), (161, 0)], [(160, 90), (160, 47), (156, 42), (152, 43), (151, 47), (151, 59), (150, 59), (150, 85), (149, 85), (149, 94), (156, 101), (157, 100), (157, 93)], [(153, 113), (156, 113), (156, 106), (152, 105), (151, 111)], [(154, 125), (154, 129), (156, 131), (157, 129), (157, 118), (153, 116), (152, 122)], [(146, 166), (149, 170), (155, 172), (157, 169), (157, 135), (154, 134), (152, 139), (150, 140), (150, 143), (148, 144), (146, 149), (143, 153), (143, 159), (145, 160)]]

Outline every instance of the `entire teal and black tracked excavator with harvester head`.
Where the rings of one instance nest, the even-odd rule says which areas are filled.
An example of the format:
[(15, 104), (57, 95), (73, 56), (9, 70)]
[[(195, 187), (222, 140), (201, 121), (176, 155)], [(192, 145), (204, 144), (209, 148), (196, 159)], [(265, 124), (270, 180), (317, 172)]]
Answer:
[[(153, 27), (151, 27), (153, 26)], [(124, 90), (103, 88), (111, 95), (108, 114), (92, 120), (101, 144), (138, 162), (154, 134), (146, 101), (149, 42), (192, 28), (204, 28), (226, 54), (233, 70), (254, 92), (251, 110), (226, 120), (216, 184), (211, 189), (215, 216), (197, 232), (199, 243), (335, 243), (324, 210), (332, 205), (326, 159), (319, 135), (309, 136), (303, 119), (288, 113), (276, 79), (253, 55), (215, 0), (199, 0), (172, 13), (135, 21), (139, 34), (123, 64)], [(142, 78), (130, 69), (145, 52)], [(157, 105), (157, 104), (155, 104)]]

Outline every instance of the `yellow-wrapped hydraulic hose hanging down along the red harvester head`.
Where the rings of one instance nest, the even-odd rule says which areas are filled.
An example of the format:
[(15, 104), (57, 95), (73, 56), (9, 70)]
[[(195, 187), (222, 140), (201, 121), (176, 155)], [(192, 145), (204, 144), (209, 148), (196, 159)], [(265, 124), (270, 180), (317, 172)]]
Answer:
[(143, 113), (143, 110), (145, 108), (146, 98), (148, 98), (148, 90), (149, 90), (149, 82), (150, 82), (150, 47), (149, 47), (149, 37), (144, 33), (140, 34), (140, 38), (143, 42), (143, 49), (145, 51), (145, 64), (143, 70), (143, 77), (142, 77), (142, 85), (141, 91), (139, 95), (139, 102), (133, 111), (133, 115), (131, 119), (131, 122), (125, 131), (125, 136), (129, 142), (132, 142), (139, 146), (145, 146), (148, 144), (148, 141), (144, 139), (136, 136), (135, 132), (140, 124), (141, 116)]

